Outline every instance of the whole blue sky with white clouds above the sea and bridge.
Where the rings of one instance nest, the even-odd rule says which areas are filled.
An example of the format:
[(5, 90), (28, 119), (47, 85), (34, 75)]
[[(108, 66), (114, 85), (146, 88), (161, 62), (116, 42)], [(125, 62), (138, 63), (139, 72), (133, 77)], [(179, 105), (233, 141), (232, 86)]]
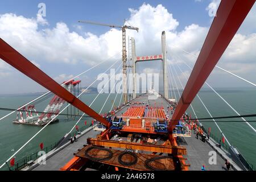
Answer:
[[(46, 5), (46, 16), (39, 15), (39, 3)], [(181, 82), (187, 80), (177, 64), (189, 76), (209, 31), (212, 7), (220, 0), (183, 1), (0, 1), (0, 38), (37, 67), (63, 82), (107, 60), (80, 76), (83, 86), (93, 82), (115, 61), (121, 64), (122, 34), (116, 28), (78, 23), (78, 20), (138, 27), (128, 30), (134, 37), (138, 56), (161, 53), (161, 34), (166, 31), (168, 63), (177, 70)], [(218, 65), (256, 82), (256, 5), (226, 49)], [(129, 47), (127, 45), (127, 47)], [(139, 73), (160, 73), (162, 64), (140, 63)], [(214, 69), (207, 80), (215, 88), (245, 87), (245, 82)], [(44, 92), (45, 89), (0, 59), (0, 94)], [(181, 88), (181, 85), (177, 85)], [(96, 86), (97, 87), (97, 86)]]

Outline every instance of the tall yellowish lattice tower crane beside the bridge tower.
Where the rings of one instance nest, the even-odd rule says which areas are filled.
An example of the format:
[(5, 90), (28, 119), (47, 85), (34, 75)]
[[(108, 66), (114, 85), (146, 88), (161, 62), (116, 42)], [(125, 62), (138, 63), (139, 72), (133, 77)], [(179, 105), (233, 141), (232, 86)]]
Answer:
[(106, 27), (112, 27), (112, 28), (121, 28), (122, 29), (122, 61), (123, 61), (123, 98), (124, 98), (124, 104), (127, 104), (127, 51), (126, 51), (126, 29), (130, 30), (136, 30), (139, 32), (139, 28), (132, 27), (132, 26), (115, 26), (111, 24), (105, 24), (105, 23), (96, 23), (96, 22), (90, 22), (90, 21), (84, 21), (80, 20), (79, 23), (89, 23), (89, 24), (96, 24), (100, 26), (106, 26)]

